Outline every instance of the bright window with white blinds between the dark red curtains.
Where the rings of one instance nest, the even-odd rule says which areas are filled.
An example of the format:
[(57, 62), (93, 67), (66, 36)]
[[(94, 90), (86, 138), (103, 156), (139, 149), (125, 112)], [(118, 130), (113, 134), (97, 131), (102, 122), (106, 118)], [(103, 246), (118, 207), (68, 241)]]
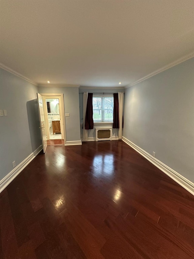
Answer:
[(113, 121), (113, 96), (93, 96), (93, 120), (94, 122)]

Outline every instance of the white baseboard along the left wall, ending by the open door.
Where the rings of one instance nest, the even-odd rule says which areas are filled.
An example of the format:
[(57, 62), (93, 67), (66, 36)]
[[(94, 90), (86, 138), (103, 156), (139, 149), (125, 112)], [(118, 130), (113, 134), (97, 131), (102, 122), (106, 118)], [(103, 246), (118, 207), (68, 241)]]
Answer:
[(5, 187), (8, 186), (9, 183), (35, 158), (35, 156), (40, 153), (42, 150), (42, 145), (39, 146), (34, 152), (32, 152), (25, 160), (23, 160), (17, 167), (15, 167), (10, 173), (8, 173), (1, 181), (0, 181), (0, 193)]

